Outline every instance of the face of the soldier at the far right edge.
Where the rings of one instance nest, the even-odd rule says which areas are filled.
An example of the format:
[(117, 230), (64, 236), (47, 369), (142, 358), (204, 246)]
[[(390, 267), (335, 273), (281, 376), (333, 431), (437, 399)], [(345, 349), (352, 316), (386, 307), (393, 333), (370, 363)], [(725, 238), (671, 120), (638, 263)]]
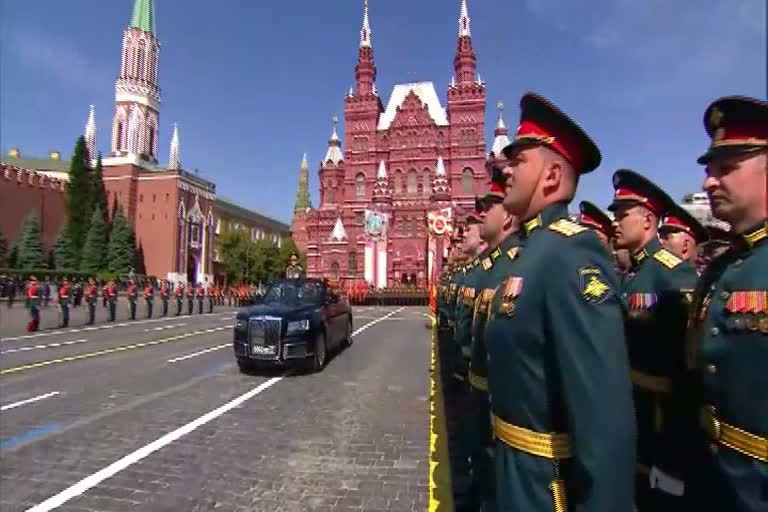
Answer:
[(706, 174), (702, 189), (718, 219), (740, 225), (768, 215), (768, 151), (713, 158)]

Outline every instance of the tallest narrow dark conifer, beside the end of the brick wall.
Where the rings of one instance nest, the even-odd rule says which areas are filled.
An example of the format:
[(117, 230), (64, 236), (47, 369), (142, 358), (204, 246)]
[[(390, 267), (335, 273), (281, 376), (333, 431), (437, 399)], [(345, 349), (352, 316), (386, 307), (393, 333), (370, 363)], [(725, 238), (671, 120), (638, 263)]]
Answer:
[(85, 138), (81, 135), (75, 143), (67, 184), (67, 230), (72, 240), (75, 264), (78, 264), (82, 257), (92, 215), (93, 187), (87, 159), (88, 149), (85, 146)]

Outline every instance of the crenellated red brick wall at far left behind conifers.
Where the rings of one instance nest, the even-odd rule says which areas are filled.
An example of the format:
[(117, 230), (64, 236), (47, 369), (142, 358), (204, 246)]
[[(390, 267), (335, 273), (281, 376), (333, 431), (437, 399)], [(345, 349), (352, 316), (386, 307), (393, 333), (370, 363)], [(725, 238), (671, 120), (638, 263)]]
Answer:
[(40, 219), (43, 248), (49, 251), (66, 222), (66, 211), (66, 193), (60, 180), (2, 165), (0, 231), (8, 241), (9, 250), (16, 243), (24, 218), (35, 212)]

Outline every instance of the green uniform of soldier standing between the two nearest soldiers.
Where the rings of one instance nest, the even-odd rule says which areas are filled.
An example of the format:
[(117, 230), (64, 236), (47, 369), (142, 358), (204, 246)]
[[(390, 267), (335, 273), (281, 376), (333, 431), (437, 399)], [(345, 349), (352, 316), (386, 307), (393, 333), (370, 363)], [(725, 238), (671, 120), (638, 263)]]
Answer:
[[(632, 255), (622, 300), (637, 422), (637, 461), (656, 487), (682, 495), (690, 463), (690, 412), (681, 403), (685, 376), (684, 339), (690, 296), (698, 278), (694, 266), (663, 249), (654, 236)], [(672, 483), (666, 477), (678, 482)], [(677, 489), (680, 487), (680, 489)], [(677, 494), (680, 493), (680, 494)]]

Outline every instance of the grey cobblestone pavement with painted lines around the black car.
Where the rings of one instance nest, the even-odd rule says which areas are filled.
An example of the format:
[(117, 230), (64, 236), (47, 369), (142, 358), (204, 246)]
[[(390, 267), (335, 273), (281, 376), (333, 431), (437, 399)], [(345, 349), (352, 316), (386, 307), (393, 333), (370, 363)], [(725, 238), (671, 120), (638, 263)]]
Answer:
[(22, 368), (0, 375), (0, 510), (426, 510), (425, 313), (356, 308), (354, 344), (318, 374), (241, 374), (231, 312), (0, 352)]

